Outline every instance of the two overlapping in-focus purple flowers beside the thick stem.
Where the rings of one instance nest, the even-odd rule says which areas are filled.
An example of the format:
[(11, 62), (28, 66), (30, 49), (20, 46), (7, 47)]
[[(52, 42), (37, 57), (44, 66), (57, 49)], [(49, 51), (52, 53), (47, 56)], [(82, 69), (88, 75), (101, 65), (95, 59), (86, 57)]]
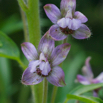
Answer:
[(64, 86), (64, 72), (58, 66), (62, 63), (71, 45), (68, 43), (55, 47), (55, 42), (67, 38), (86, 39), (91, 36), (89, 28), (83, 24), (88, 21), (85, 15), (75, 11), (76, 0), (62, 0), (60, 10), (54, 4), (46, 4), (44, 10), (54, 23), (41, 38), (38, 50), (29, 42), (21, 44), (22, 51), (29, 60), (28, 68), (22, 75), (22, 83), (35, 85), (45, 77), (55, 86)]

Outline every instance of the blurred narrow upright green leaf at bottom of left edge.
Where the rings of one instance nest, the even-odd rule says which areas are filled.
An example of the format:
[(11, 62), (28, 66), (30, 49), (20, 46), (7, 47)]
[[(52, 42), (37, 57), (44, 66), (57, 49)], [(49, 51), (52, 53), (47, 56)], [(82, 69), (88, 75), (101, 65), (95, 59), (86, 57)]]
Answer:
[[(9, 87), (11, 86), (11, 70), (9, 60), (0, 57), (0, 103), (10, 103)], [(10, 91), (11, 93), (12, 91)]]

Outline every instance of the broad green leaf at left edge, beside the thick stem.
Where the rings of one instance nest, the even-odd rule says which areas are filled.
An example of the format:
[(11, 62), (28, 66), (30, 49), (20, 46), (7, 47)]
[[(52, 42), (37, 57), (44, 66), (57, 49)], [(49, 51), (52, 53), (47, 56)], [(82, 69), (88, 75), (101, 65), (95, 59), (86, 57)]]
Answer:
[(0, 32), (0, 56), (17, 60), (19, 55), (17, 45), (7, 35)]

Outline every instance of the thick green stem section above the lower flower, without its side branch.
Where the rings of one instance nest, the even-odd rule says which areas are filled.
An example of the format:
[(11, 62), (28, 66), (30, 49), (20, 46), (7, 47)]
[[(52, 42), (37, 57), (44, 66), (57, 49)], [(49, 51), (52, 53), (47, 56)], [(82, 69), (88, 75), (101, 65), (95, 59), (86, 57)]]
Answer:
[(39, 0), (29, 0), (29, 11), (26, 12), (30, 42), (38, 47), (40, 41)]

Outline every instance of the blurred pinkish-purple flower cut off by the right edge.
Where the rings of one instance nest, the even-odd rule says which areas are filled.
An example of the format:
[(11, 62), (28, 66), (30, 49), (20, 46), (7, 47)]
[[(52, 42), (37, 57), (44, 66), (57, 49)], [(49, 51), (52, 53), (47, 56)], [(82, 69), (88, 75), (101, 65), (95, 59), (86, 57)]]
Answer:
[[(77, 80), (81, 83), (81, 84), (84, 84), (84, 85), (89, 85), (89, 84), (96, 84), (96, 83), (103, 83), (103, 72), (100, 73), (100, 75), (96, 78), (93, 78), (94, 75), (92, 73), (92, 70), (91, 70), (91, 66), (89, 64), (89, 61), (90, 61), (91, 57), (88, 57), (85, 61), (85, 66), (83, 67), (82, 69), (82, 72), (84, 74), (84, 76), (82, 75), (77, 75)], [(95, 89), (93, 91), (93, 95), (94, 96), (97, 96), (97, 93), (99, 91), (100, 88), (98, 89)]]

